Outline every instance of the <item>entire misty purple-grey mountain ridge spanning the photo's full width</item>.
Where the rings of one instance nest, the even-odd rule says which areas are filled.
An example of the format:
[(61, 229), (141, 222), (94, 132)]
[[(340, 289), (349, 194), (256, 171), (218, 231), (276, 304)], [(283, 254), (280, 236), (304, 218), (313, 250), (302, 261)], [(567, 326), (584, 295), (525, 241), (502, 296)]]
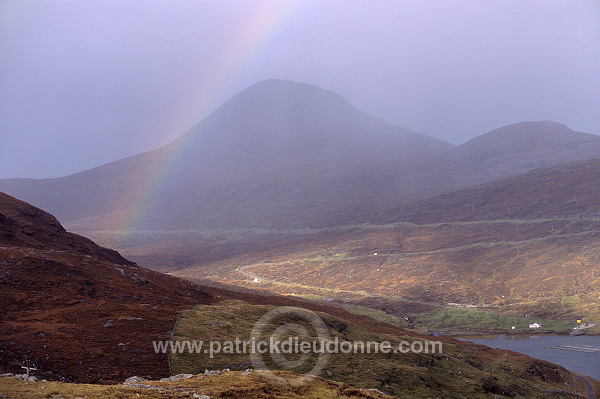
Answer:
[[(516, 123), (454, 146), (331, 91), (267, 80), (165, 147), (63, 178), (3, 179), (0, 190), (76, 230), (110, 230), (135, 212), (145, 217), (128, 228), (139, 230), (311, 229), (594, 157), (600, 136), (558, 122)], [(144, 184), (153, 193), (140, 198)]]

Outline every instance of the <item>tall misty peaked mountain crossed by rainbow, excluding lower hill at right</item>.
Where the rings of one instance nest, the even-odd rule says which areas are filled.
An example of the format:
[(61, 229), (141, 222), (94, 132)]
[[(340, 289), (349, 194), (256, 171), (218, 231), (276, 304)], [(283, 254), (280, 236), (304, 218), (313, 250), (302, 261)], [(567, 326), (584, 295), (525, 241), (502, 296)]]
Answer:
[[(3, 180), (0, 190), (102, 229), (140, 209), (149, 215), (141, 229), (305, 228), (342, 223), (366, 203), (393, 205), (419, 185), (398, 171), (451, 147), (332, 92), (270, 80), (166, 147), (64, 178)], [(153, 196), (140, 201), (147, 185)]]

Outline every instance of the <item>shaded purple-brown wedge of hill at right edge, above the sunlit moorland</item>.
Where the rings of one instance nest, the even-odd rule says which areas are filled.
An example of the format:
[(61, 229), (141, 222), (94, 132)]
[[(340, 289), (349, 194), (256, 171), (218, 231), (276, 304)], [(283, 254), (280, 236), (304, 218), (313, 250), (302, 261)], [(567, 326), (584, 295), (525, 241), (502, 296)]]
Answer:
[(524, 175), (400, 205), (375, 222), (440, 223), (497, 219), (600, 217), (600, 158), (535, 169)]

